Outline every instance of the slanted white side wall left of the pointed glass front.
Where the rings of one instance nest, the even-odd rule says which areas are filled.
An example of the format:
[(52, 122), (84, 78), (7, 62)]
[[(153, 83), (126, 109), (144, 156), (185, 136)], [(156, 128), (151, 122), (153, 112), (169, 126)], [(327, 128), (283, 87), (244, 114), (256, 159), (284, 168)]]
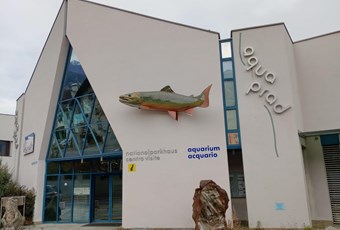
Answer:
[[(59, 12), (25, 93), (22, 107), (18, 182), (36, 190), (34, 221), (41, 221), (45, 156), (67, 57), (65, 6)], [(35, 134), (34, 152), (25, 154), (25, 137)]]

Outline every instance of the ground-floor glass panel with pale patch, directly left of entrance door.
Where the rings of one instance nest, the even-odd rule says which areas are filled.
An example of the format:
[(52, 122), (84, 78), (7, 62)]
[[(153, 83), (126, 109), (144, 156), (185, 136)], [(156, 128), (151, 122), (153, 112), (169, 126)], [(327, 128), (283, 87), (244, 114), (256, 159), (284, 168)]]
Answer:
[(73, 222), (89, 222), (90, 175), (74, 176)]

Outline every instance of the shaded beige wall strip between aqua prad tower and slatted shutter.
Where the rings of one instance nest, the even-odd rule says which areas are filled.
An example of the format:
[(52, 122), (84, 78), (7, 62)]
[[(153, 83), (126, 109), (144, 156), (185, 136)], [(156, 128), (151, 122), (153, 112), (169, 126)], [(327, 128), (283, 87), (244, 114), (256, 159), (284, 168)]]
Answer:
[(312, 220), (333, 221), (320, 137), (310, 136), (305, 140), (304, 160)]

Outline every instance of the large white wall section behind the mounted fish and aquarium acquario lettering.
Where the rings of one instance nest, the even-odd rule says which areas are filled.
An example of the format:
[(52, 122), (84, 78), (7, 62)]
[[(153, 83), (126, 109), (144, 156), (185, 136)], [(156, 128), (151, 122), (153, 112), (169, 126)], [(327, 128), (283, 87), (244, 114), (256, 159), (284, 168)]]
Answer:
[[(123, 227), (193, 227), (200, 180), (229, 193), (218, 34), (81, 1), (69, 1), (68, 13), (67, 36), (124, 151)], [(178, 121), (118, 101), (166, 85), (198, 95), (210, 84), (210, 106)], [(217, 158), (188, 159), (188, 148), (207, 145), (220, 148)], [(177, 154), (134, 161), (128, 172), (127, 152), (159, 149)]]

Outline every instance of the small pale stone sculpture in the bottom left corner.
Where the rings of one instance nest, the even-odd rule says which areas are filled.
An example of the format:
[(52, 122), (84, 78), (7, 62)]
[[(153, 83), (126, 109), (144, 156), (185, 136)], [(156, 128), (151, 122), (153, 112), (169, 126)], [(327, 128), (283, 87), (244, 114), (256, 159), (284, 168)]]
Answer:
[(5, 204), (5, 214), (1, 219), (3, 230), (23, 229), (25, 217), (18, 210), (17, 200), (9, 198)]

